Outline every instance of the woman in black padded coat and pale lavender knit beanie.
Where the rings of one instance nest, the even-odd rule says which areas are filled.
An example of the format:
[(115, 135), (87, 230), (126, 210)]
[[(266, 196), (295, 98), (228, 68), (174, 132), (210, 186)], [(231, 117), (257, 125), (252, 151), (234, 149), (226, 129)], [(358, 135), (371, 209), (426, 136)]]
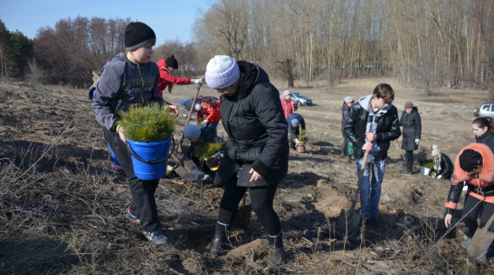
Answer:
[(228, 134), (217, 177), (224, 183), (211, 254), (227, 246), (227, 235), (244, 193), (249, 190), (252, 209), (267, 233), (268, 266), (283, 259), (280, 217), (273, 209), (278, 183), (288, 172), (288, 124), (280, 92), (257, 65), (226, 55), (209, 60), (205, 81), (220, 94), (222, 124)]

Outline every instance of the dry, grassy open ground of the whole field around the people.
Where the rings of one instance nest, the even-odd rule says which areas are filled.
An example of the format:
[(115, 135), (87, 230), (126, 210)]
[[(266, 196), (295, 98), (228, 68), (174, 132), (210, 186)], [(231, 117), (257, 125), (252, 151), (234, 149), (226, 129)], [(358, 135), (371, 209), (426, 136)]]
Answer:
[[(345, 80), (335, 87), (297, 83), (292, 90), (315, 105), (299, 107), (307, 123), (307, 151), (290, 152), (289, 175), (275, 197), (287, 261), (274, 269), (266, 269), (267, 242), (254, 214), (247, 229), (233, 228), (232, 251), (209, 254), (223, 189), (199, 181), (160, 180), (157, 204), (170, 242), (147, 242), (124, 217), (128, 183), (110, 170), (87, 91), (0, 82), (0, 273), (492, 274), (493, 258), (467, 261), (461, 224), (445, 234), (449, 182), (418, 173), (418, 165), (415, 174), (400, 174), (400, 140), (389, 151), (379, 230), (364, 227), (347, 242), (336, 232), (357, 180), (355, 160), (339, 157), (343, 98), (371, 94), (381, 82), (394, 87), (400, 115), (406, 101), (418, 106), (423, 135), (415, 160), (428, 158), (432, 144), (454, 160), (474, 142), (473, 107), (486, 101), (488, 92), (440, 88), (426, 96), (392, 78)], [(284, 83), (275, 85), (286, 89)], [(164, 96), (177, 104), (195, 92), (195, 86), (176, 86)], [(209, 87), (202, 87), (201, 95), (216, 96)], [(187, 114), (180, 111), (176, 141)], [(221, 125), (219, 133), (226, 138)]]

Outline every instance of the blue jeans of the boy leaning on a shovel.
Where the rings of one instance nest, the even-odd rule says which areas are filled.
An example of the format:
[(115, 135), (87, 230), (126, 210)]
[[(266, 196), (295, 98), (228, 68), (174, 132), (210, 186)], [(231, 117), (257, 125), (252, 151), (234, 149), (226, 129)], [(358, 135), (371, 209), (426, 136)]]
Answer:
[[(356, 162), (357, 175), (360, 173), (364, 157)], [(369, 172), (372, 167), (372, 179), (369, 180)], [(364, 176), (360, 184), (360, 215), (366, 220), (377, 219), (379, 215), (379, 199), (381, 198), (381, 184), (385, 176), (386, 160), (381, 160), (379, 153), (369, 154), (364, 170)]]

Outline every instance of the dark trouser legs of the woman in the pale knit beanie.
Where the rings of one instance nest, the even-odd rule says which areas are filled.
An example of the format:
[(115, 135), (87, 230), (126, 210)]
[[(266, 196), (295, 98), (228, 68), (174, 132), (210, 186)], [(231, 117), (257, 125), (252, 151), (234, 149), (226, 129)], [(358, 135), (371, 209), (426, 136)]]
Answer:
[[(247, 188), (236, 185), (235, 176), (231, 180), (233, 182), (228, 182), (224, 186), (222, 202), (220, 203), (220, 213), (218, 215), (218, 222), (225, 225), (231, 225), (233, 223), (233, 217), (237, 212), (239, 202), (247, 190)], [(252, 209), (266, 233), (270, 235), (279, 234), (281, 231), (280, 217), (272, 207), (276, 188), (277, 185), (249, 188)]]

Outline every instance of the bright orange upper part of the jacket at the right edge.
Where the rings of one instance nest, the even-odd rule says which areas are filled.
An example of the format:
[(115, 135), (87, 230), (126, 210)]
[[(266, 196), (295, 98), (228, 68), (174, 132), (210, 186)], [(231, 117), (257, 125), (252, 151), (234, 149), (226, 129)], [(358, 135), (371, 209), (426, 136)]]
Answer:
[(482, 156), (482, 169), (479, 173), (479, 179), (484, 181), (480, 183), (481, 187), (494, 185), (494, 154), (490, 151), (489, 147), (482, 143), (471, 143), (469, 146), (463, 148), (458, 156), (456, 156), (456, 161), (454, 162), (454, 179), (458, 181), (470, 180), (472, 179), (467, 175), (467, 173), (460, 167), (460, 155), (464, 150), (478, 151)]

